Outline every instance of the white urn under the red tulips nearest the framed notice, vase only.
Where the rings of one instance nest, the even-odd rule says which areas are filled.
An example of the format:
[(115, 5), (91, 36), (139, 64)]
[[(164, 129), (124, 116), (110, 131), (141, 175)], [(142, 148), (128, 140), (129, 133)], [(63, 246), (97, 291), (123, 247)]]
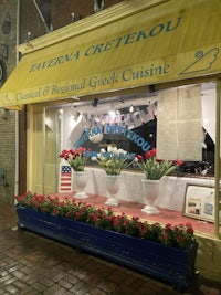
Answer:
[(143, 178), (141, 186), (144, 199), (146, 200), (146, 206), (141, 209), (141, 212), (147, 214), (159, 214), (160, 211), (155, 206), (155, 202), (158, 198), (160, 180), (150, 180)]

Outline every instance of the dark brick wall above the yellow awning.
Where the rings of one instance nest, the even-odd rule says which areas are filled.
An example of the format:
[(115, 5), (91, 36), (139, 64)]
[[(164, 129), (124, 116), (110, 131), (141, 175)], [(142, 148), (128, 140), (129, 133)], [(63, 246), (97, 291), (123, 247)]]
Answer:
[[(123, 0), (105, 0), (104, 9), (123, 2)], [(76, 21), (94, 14), (93, 0), (39, 0), (39, 8), (45, 21), (52, 24), (53, 30), (67, 25), (72, 21), (74, 12)], [(21, 0), (21, 34), (20, 43), (27, 41), (27, 32), (31, 32), (32, 39), (46, 33), (46, 29), (39, 12), (30, 0)]]

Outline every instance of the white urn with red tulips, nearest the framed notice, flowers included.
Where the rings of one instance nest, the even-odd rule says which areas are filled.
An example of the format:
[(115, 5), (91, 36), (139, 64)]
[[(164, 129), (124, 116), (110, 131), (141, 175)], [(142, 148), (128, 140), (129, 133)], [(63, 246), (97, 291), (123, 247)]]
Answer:
[(164, 176), (173, 172), (182, 161), (158, 160), (156, 158), (157, 149), (152, 148), (145, 152), (145, 156), (137, 155), (137, 165), (141, 169), (144, 177), (141, 179), (143, 193), (147, 206), (141, 209), (147, 214), (158, 214), (160, 211), (155, 206), (159, 193), (160, 179)]

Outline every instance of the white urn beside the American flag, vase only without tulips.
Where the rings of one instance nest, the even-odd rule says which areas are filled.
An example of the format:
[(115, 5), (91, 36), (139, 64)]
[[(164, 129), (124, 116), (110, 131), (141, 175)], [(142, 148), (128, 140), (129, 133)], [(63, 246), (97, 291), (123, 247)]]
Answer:
[(74, 188), (76, 190), (73, 197), (75, 199), (88, 198), (88, 196), (84, 191), (87, 180), (88, 180), (88, 171), (74, 171), (73, 179), (74, 179)]

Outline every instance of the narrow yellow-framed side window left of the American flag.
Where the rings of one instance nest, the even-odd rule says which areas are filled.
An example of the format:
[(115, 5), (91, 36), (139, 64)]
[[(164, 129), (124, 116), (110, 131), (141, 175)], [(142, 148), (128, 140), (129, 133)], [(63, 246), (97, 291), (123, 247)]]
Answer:
[(59, 188), (61, 114), (57, 107), (29, 108), (28, 190), (53, 193)]

